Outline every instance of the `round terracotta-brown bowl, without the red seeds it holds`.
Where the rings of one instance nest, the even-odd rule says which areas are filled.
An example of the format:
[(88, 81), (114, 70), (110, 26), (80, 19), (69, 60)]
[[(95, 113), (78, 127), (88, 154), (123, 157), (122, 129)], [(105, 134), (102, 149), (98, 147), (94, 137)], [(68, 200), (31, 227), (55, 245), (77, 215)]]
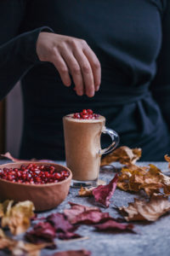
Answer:
[[(31, 162), (32, 163), (32, 162)], [(6, 168), (20, 168), (21, 165), (29, 165), (30, 162), (16, 162), (1, 165), (0, 169)], [(14, 200), (26, 201), (30, 200), (34, 203), (36, 211), (45, 211), (57, 207), (65, 197), (68, 195), (71, 185), (71, 170), (65, 166), (61, 166), (54, 163), (45, 162), (33, 162), (37, 166), (54, 166), (57, 171), (70, 172), (69, 177), (59, 183), (47, 183), (47, 184), (22, 184), (12, 183), (0, 178), (0, 200)]]

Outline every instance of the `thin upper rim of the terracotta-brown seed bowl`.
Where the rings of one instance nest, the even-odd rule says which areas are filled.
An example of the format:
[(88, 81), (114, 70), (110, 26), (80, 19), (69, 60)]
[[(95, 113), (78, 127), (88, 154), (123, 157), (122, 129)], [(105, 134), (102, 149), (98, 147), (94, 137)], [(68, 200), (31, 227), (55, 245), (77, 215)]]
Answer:
[(64, 184), (66, 182), (68, 182), (69, 180), (71, 180), (72, 178), (72, 172), (71, 170), (67, 167), (67, 166), (62, 166), (62, 165), (59, 165), (57, 163), (49, 163), (49, 162), (37, 162), (37, 161), (17, 161), (17, 162), (11, 162), (11, 163), (7, 163), (7, 164), (3, 164), (3, 165), (0, 165), (0, 169), (2, 168), (2, 166), (4, 166), (3, 168), (5, 168), (5, 166), (8, 166), (8, 165), (11, 165), (11, 164), (20, 164), (20, 165), (24, 165), (24, 164), (42, 164), (42, 165), (55, 165), (55, 166), (60, 166), (60, 167), (64, 167), (65, 169), (67, 169), (67, 171), (69, 171), (70, 175), (69, 177), (65, 178), (65, 180), (63, 181), (60, 181), (59, 183), (46, 183), (46, 184), (25, 184), (25, 183), (13, 183), (13, 182), (10, 182), (8, 180), (5, 180), (3, 178), (0, 178), (0, 183), (9, 183), (9, 184), (14, 184), (14, 185), (19, 185), (19, 186), (24, 186), (24, 187), (51, 187), (51, 186), (54, 186), (54, 185), (60, 185), (60, 184)]

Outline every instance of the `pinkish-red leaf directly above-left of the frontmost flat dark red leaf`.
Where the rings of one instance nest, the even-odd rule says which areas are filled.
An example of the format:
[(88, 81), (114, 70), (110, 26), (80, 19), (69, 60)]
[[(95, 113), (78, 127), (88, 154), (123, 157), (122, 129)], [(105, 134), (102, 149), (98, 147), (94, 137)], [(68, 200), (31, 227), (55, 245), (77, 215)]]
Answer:
[(99, 212), (95, 210), (90, 210), (87, 212), (82, 212), (78, 214), (74, 219), (72, 219), (72, 224), (97, 224), (103, 222), (105, 218), (109, 218), (109, 212)]

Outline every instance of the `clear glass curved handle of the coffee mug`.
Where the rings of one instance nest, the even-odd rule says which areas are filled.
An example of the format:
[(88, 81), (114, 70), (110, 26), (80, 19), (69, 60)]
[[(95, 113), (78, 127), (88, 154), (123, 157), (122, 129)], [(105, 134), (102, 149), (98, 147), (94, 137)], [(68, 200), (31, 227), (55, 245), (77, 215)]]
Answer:
[(119, 136), (116, 133), (116, 131), (113, 131), (112, 129), (107, 128), (107, 127), (103, 127), (102, 133), (108, 134), (111, 137), (112, 142), (111, 142), (111, 145), (108, 148), (104, 148), (104, 149), (99, 150), (100, 156), (102, 154), (111, 153), (111, 151), (113, 151), (113, 149), (116, 148), (118, 143), (119, 143)]

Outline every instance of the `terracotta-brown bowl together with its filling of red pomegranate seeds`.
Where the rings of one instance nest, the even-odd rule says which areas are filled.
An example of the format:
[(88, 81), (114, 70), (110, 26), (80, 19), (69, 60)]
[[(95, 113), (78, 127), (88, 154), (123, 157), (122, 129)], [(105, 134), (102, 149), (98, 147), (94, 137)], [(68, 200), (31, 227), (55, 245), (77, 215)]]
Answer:
[(0, 200), (34, 203), (36, 211), (57, 207), (68, 195), (72, 173), (52, 163), (16, 162), (0, 166)]

